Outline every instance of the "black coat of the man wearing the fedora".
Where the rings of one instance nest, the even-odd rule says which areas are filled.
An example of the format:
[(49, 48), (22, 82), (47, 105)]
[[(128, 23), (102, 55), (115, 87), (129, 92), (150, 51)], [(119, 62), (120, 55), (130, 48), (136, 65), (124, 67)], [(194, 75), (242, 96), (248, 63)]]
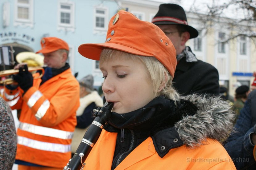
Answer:
[(187, 62), (183, 57), (176, 66), (173, 87), (181, 94), (219, 95), (218, 70), (204, 61)]

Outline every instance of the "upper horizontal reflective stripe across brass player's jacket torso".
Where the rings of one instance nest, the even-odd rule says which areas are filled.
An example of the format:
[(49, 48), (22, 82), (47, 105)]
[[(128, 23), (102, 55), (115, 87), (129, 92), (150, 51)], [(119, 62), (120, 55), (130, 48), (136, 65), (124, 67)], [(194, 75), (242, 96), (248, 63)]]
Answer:
[(37, 135), (43, 135), (43, 136), (50, 136), (50, 137), (56, 137), (60, 139), (72, 139), (73, 132), (68, 132), (64, 130), (54, 129), (54, 128), (47, 128), (37, 125), (32, 125), (29, 123), (20, 123), (19, 128), (21, 130), (34, 133)]

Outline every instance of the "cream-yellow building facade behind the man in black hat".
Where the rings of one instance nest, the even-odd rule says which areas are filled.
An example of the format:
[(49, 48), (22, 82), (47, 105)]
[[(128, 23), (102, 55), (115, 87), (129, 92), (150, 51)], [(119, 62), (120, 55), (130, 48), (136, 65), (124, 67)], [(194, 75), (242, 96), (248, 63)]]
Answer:
[[(159, 4), (146, 0), (119, 0), (123, 9), (138, 18), (151, 22), (158, 11)], [(197, 38), (190, 39), (190, 46), (196, 57), (215, 66), (219, 72), (219, 83), (234, 96), (235, 89), (240, 85), (252, 83), (252, 73), (256, 71), (256, 43), (246, 36), (238, 36), (225, 42), (230, 34), (236, 34), (236, 28), (229, 26), (230, 18), (219, 18), (217, 22), (202, 20), (202, 14), (186, 11), (188, 24), (199, 32)], [(245, 27), (248, 23), (240, 23), (237, 27)], [(209, 25), (212, 25), (209, 27)], [(252, 29), (256, 31), (255, 25)]]

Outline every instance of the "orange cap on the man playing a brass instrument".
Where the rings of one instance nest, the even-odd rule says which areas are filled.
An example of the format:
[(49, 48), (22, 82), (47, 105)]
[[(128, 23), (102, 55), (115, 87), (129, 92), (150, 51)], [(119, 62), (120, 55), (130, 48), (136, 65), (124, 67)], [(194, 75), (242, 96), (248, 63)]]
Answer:
[(58, 49), (66, 49), (69, 51), (68, 43), (56, 37), (44, 37), (41, 40), (41, 47), (36, 53), (51, 53)]

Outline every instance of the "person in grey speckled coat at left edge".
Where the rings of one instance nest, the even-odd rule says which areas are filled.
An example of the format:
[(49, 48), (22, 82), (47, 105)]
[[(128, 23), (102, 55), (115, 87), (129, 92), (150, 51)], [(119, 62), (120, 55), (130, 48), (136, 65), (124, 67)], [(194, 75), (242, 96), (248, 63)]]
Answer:
[(16, 129), (10, 106), (0, 97), (0, 169), (12, 169), (16, 155)]

